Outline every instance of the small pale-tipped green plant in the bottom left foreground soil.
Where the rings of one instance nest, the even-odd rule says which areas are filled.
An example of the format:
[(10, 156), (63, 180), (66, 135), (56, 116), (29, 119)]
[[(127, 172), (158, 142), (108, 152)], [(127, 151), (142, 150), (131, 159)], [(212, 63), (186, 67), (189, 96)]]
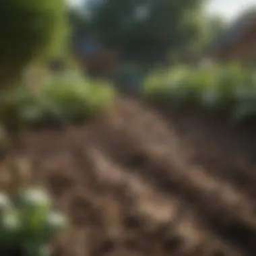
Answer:
[(68, 224), (52, 208), (43, 189), (22, 190), (13, 200), (0, 193), (0, 246), (20, 249), (23, 256), (50, 256), (51, 238)]

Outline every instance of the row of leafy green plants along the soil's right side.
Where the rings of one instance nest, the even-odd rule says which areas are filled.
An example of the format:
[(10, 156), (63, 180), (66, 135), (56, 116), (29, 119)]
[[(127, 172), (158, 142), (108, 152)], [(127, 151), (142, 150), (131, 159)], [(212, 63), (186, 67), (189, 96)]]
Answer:
[(256, 117), (256, 75), (236, 63), (154, 71), (143, 81), (143, 96), (222, 113), (234, 122)]

